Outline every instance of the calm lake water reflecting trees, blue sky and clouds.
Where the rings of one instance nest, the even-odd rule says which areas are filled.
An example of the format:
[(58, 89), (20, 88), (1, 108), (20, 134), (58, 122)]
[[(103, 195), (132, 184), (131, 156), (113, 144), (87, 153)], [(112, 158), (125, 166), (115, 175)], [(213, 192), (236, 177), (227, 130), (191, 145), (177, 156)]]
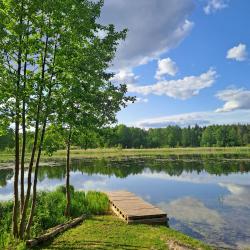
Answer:
[[(236, 155), (72, 160), (78, 190), (128, 190), (166, 211), (169, 225), (213, 245), (250, 247), (250, 159)], [(49, 165), (49, 164), (48, 164)], [(42, 166), (39, 190), (64, 184), (65, 166)], [(27, 176), (27, 173), (26, 173)], [(13, 170), (0, 170), (0, 200)]]

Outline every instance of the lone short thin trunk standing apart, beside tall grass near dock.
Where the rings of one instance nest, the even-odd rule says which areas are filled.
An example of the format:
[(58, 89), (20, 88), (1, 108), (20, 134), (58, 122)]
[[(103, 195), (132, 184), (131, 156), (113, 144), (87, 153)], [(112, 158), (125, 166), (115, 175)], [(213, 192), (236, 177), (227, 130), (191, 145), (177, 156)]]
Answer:
[(72, 130), (69, 129), (69, 136), (67, 141), (67, 161), (66, 161), (66, 208), (65, 216), (70, 216), (70, 146), (71, 146)]

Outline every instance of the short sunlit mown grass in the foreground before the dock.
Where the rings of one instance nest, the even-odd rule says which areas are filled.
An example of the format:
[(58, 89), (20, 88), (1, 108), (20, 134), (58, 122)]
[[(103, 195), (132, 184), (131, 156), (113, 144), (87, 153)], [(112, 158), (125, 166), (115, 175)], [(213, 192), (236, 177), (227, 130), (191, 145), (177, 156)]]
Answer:
[(169, 241), (192, 249), (211, 249), (204, 243), (165, 226), (127, 225), (114, 216), (95, 216), (36, 249), (168, 249)]

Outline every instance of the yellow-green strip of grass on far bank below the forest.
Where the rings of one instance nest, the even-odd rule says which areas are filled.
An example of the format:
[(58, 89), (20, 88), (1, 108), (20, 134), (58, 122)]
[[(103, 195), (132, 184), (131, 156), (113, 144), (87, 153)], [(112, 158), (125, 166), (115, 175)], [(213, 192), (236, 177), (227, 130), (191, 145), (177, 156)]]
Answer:
[[(105, 158), (105, 157), (138, 157), (138, 156), (167, 156), (167, 155), (242, 155), (250, 157), (250, 147), (197, 147), (197, 148), (153, 148), (153, 149), (88, 149), (72, 150), (73, 158)], [(29, 155), (27, 155), (28, 157)], [(52, 157), (43, 155), (43, 161), (62, 159), (66, 156), (65, 150), (57, 151)], [(0, 163), (11, 162), (14, 154), (0, 152)]]

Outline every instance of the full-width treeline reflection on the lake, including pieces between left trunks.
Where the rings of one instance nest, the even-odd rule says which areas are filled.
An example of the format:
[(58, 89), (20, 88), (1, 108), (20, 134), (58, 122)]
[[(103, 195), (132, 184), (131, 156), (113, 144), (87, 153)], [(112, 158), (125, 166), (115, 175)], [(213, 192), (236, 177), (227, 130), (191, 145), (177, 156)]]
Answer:
[[(246, 173), (250, 171), (250, 161), (237, 159), (236, 156), (168, 156), (154, 158), (122, 158), (122, 159), (81, 159), (72, 161), (72, 172), (94, 175), (101, 174), (126, 178), (129, 175), (140, 174), (146, 169), (153, 173), (163, 172), (170, 176), (180, 176), (184, 171), (197, 174), (206, 171), (212, 175), (228, 175), (231, 173)], [(65, 167), (42, 166), (38, 179), (64, 179)], [(5, 186), (13, 177), (13, 170), (0, 170), (0, 186)]]

